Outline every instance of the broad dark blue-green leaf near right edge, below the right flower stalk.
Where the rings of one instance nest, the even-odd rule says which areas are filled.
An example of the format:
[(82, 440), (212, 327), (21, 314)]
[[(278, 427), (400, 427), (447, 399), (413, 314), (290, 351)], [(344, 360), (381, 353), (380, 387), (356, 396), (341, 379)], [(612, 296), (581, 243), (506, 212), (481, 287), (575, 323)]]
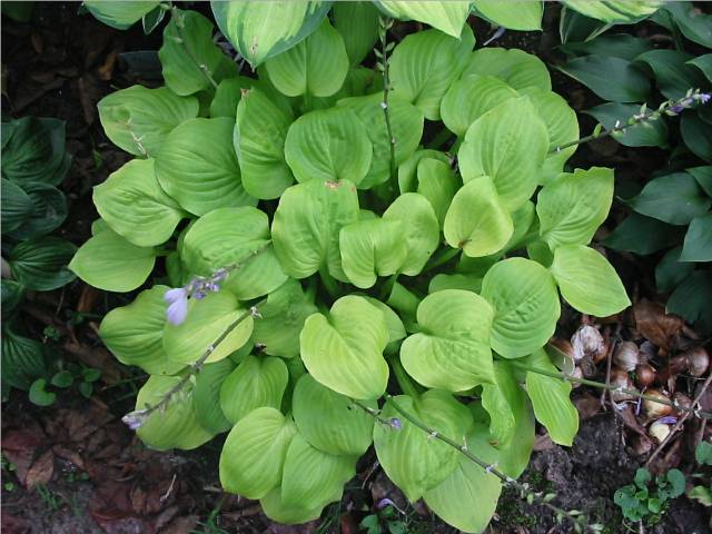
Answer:
[(640, 195), (629, 200), (639, 214), (670, 222), (689, 225), (712, 205), (698, 181), (686, 172), (674, 172), (649, 181)]

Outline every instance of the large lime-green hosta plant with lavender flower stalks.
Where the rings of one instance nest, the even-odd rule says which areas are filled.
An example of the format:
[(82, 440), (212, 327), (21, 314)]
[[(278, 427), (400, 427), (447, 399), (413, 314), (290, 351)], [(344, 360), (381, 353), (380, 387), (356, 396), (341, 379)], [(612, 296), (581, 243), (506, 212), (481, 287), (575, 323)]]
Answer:
[[(297, 6), (257, 32), (269, 4), (214, 6), (256, 77), (172, 8), (166, 87), (99, 103), (136, 159), (95, 188), (71, 268), (111, 291), (165, 274), (101, 323), (150, 374), (125, 421), (158, 449), (227, 433), (222, 486), (278, 522), (340, 500), (373, 445), (411, 501), (482, 531), (535, 418), (576, 434), (571, 385), (536, 373), (561, 297), (629, 305), (590, 246), (613, 171), (565, 171), (576, 117), (536, 57), (473, 51), (466, 24), (394, 46), (369, 4)], [(447, 152), (425, 140), (443, 128)]]

